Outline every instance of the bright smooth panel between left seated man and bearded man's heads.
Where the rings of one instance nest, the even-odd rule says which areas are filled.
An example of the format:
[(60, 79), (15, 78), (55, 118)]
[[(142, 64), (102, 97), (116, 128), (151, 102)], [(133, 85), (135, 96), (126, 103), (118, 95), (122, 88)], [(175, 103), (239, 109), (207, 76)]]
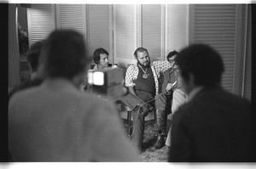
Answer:
[(116, 63), (136, 63), (133, 53), (137, 48), (137, 5), (113, 5), (113, 39)]

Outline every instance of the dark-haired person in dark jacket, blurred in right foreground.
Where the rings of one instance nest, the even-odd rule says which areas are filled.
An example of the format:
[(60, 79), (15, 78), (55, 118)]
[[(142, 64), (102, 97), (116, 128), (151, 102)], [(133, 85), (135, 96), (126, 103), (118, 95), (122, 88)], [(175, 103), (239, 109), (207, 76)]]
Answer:
[(173, 115), (169, 161), (251, 161), (251, 104), (220, 87), (221, 56), (192, 44), (177, 65), (189, 101)]

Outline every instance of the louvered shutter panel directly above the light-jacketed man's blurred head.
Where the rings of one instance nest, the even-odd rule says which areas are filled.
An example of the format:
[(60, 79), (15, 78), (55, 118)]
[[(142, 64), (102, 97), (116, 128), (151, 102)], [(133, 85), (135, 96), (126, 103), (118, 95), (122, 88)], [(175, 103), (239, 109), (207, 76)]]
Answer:
[(57, 4), (57, 29), (73, 29), (85, 35), (85, 5)]

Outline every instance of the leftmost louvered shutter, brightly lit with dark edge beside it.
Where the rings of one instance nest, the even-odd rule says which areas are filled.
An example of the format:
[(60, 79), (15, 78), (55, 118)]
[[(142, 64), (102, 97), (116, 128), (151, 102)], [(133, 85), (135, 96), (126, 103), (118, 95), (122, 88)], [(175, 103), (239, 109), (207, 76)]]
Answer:
[(34, 42), (43, 40), (55, 30), (55, 8), (53, 4), (32, 4), (27, 8), (28, 40)]

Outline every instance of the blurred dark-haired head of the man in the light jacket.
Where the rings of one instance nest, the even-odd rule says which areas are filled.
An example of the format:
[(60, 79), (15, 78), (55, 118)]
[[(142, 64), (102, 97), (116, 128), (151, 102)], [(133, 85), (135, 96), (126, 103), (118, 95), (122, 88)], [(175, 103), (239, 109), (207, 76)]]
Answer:
[(78, 31), (55, 30), (45, 41), (40, 63), (46, 76), (64, 77), (84, 72), (89, 58), (86, 53), (84, 36)]

